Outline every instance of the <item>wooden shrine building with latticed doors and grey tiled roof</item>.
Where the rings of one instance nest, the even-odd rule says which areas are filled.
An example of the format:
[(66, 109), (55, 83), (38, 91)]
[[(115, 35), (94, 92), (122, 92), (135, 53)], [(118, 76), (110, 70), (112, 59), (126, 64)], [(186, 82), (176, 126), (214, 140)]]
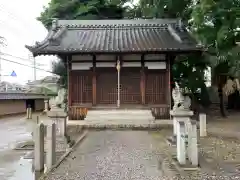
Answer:
[(26, 47), (65, 62), (70, 117), (79, 107), (155, 107), (165, 118), (171, 64), (203, 51), (176, 19), (54, 20), (42, 42)]

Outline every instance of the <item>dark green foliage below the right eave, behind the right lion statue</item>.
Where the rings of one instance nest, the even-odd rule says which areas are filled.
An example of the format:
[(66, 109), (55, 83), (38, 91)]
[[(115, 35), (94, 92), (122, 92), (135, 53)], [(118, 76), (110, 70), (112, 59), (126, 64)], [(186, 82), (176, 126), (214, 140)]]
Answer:
[(173, 80), (184, 88), (186, 93), (203, 107), (210, 105), (210, 98), (205, 85), (205, 70), (209, 65), (203, 55), (181, 55), (175, 59), (172, 73)]

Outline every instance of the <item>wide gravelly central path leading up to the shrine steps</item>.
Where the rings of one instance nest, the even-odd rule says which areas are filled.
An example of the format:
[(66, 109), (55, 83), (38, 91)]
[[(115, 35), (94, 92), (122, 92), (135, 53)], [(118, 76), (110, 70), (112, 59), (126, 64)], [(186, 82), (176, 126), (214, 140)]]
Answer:
[(164, 180), (146, 131), (93, 131), (47, 180)]

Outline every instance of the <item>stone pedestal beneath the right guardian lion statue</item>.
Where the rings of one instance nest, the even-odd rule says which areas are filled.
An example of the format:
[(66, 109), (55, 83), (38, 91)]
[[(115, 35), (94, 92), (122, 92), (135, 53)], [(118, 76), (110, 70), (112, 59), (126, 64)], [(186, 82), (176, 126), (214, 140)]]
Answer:
[(168, 138), (168, 142), (175, 146), (177, 142), (177, 121), (182, 121), (184, 122), (185, 126), (185, 135), (188, 135), (189, 131), (189, 125), (190, 125), (190, 120), (191, 116), (193, 116), (193, 111), (190, 110), (182, 110), (182, 109), (176, 109), (176, 110), (171, 110), (170, 115), (173, 117), (173, 136)]

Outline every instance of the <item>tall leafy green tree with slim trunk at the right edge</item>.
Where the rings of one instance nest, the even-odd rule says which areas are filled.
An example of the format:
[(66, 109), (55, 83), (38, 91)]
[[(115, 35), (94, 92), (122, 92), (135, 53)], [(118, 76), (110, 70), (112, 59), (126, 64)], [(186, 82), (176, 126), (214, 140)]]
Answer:
[[(224, 117), (223, 86), (226, 75), (236, 76), (240, 70), (240, 51), (236, 43), (239, 38), (239, 9), (239, 0), (201, 0), (196, 2), (192, 11), (191, 30), (209, 49), (207, 56), (213, 76), (217, 79), (220, 110)], [(233, 68), (237, 73), (233, 73)]]

